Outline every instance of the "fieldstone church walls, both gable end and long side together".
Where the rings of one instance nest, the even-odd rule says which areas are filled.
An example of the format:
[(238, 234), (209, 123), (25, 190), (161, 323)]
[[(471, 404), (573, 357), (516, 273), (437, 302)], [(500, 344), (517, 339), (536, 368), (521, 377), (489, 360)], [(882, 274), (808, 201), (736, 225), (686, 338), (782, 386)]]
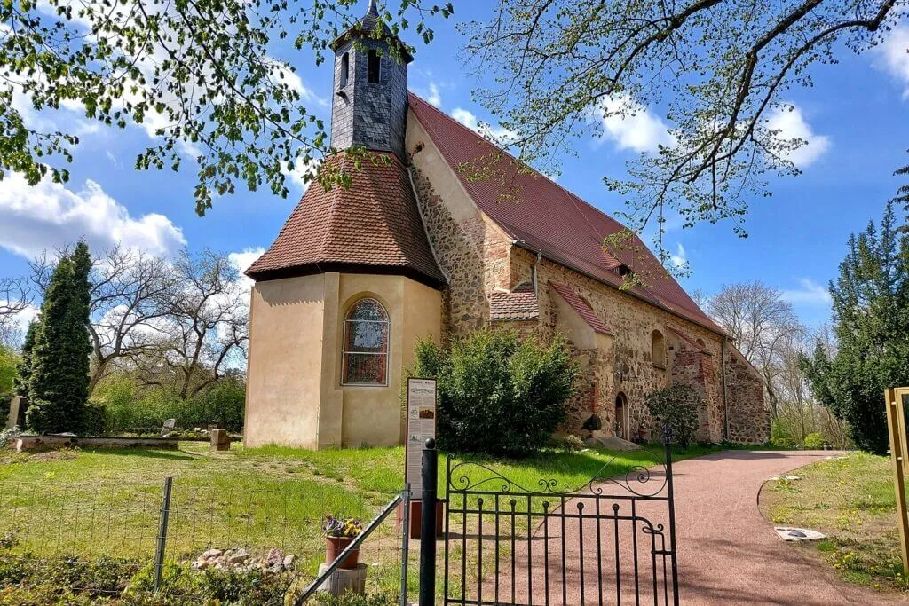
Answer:
[[(420, 142), (410, 153), (437, 154), (422, 145)], [(582, 376), (578, 391), (567, 403), (565, 432), (584, 435), (581, 426), (592, 414), (600, 417), (604, 431), (611, 431), (616, 421), (615, 400), (622, 394), (628, 406), (631, 434), (643, 426), (646, 434), (655, 439), (658, 434), (644, 398), (671, 384), (685, 384), (694, 387), (704, 399), (698, 415), (697, 438), (719, 442), (726, 437), (724, 364), (719, 362), (723, 360), (724, 347), (720, 335), (560, 263), (540, 259), (536, 253), (512, 243), (469, 199), (445, 200), (436, 194), (432, 180), (416, 167), (432, 164), (423, 162), (425, 159), (416, 157), (411, 171), (429, 241), (449, 278), (443, 293), (445, 341), (489, 325), (489, 296), (496, 289), (511, 290), (519, 283), (532, 281), (535, 268), (540, 320), (508, 323), (510, 326), (521, 333), (552, 338), (559, 313), (555, 297), (561, 296), (549, 287), (554, 282), (564, 283), (584, 297), (614, 333), (602, 349), (576, 350)], [(452, 195), (467, 197), (460, 193)], [(464, 204), (473, 210), (465, 213)], [(454, 218), (454, 208), (458, 209), (456, 214), (460, 219)], [(670, 326), (699, 343), (689, 343)], [(666, 351), (661, 357), (667, 367), (654, 364), (651, 340), (654, 331), (664, 336)], [(770, 423), (760, 378), (734, 347), (728, 346), (726, 350), (728, 438), (734, 442), (766, 442)]]

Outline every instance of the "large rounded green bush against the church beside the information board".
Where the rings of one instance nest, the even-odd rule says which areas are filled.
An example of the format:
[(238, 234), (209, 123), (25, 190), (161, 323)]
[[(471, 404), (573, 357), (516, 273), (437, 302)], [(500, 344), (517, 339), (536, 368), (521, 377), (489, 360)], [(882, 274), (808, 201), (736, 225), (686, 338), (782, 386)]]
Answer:
[(577, 364), (562, 339), (477, 331), (445, 350), (419, 343), (411, 376), (438, 381), (438, 444), (449, 452), (523, 457), (564, 420)]

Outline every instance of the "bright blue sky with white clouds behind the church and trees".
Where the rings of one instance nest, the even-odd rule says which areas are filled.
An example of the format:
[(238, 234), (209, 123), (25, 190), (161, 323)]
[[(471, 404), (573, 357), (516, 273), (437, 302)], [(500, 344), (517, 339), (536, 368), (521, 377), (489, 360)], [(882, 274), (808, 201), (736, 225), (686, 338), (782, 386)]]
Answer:
[[(465, 16), (473, 15), (434, 24), (435, 41), (418, 46), (409, 80), (417, 94), (473, 123), (489, 116), (471, 101), (478, 81), (458, 58), (463, 38), (454, 23)], [(806, 323), (827, 320), (826, 283), (837, 273), (846, 239), (880, 218), (900, 184), (894, 169), (909, 163), (907, 48), (909, 27), (897, 28), (872, 52), (846, 52), (839, 65), (816, 67), (814, 88), (785, 95), (797, 111), (787, 114), (781, 127), (810, 142), (794, 158), (804, 174), (774, 178), (774, 196), (751, 201), (747, 239), (735, 236), (731, 224), (667, 233), (667, 246), (691, 264), (693, 273), (681, 281), (689, 291), (712, 293), (724, 283), (761, 280), (782, 290)], [(295, 65), (310, 109), (327, 117), (330, 66), (316, 68), (307, 54), (279, 56)], [(77, 111), (30, 114), (35, 121), (73, 124), (83, 143), (65, 187), (28, 188), (15, 176), (0, 182), (0, 276), (25, 273), (30, 256), (79, 237), (95, 247), (122, 240), (158, 253), (207, 246), (237, 253), (238, 263), (248, 263), (272, 242), (303, 192), (295, 184), (281, 199), (238, 189), (216, 199), (214, 209), (199, 218), (194, 162), (179, 174), (133, 168), (135, 155), (151, 142), (143, 127), (106, 129), (83, 121)], [(659, 139), (660, 125), (653, 112), (603, 124), (604, 141), (580, 142), (583, 160), (566, 158), (559, 183), (606, 213), (622, 210), (623, 200), (606, 191), (602, 177), (624, 174), (635, 150)]]

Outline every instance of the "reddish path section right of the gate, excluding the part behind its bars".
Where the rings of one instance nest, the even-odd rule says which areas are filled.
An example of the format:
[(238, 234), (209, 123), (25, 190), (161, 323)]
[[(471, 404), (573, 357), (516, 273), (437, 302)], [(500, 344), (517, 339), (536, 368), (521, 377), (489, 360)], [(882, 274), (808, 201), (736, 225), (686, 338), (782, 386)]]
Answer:
[(758, 510), (765, 480), (832, 454), (726, 451), (674, 465), (682, 603), (894, 603), (839, 581), (832, 568), (778, 539)]

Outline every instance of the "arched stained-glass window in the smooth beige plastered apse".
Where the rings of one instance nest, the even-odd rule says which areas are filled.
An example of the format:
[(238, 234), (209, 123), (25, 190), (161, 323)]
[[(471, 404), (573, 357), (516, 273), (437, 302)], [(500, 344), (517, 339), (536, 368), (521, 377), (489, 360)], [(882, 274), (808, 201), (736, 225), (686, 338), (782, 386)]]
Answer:
[(388, 382), (388, 314), (375, 299), (360, 299), (344, 323), (345, 385), (385, 385)]

